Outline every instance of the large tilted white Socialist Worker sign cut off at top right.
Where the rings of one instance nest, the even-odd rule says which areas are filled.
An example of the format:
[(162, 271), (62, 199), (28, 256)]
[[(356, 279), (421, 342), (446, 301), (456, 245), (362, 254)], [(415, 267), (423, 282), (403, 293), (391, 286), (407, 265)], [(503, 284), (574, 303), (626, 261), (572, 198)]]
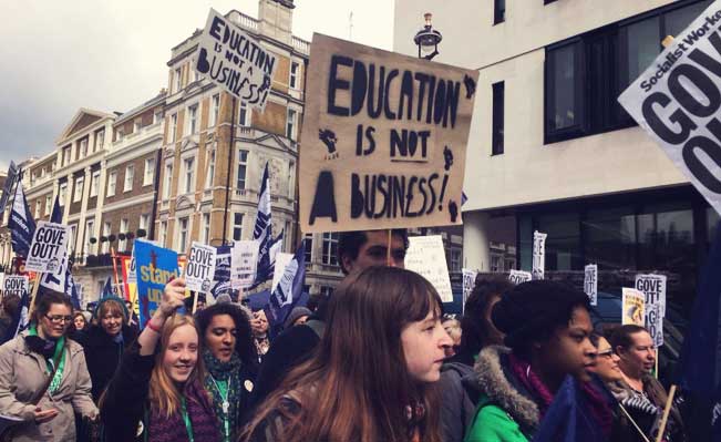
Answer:
[(721, 2), (715, 1), (619, 96), (619, 103), (721, 213)]

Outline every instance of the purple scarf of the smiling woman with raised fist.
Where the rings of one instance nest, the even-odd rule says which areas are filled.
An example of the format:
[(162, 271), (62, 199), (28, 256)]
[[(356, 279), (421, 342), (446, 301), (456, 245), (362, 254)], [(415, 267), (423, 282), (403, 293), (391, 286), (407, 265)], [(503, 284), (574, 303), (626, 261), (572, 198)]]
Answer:
[[(187, 414), (193, 428), (193, 441), (219, 441), (220, 433), (218, 433), (216, 425), (213, 405), (200, 382), (186, 383), (183, 389), (183, 397), (185, 398)], [(158, 410), (151, 407), (147, 433), (148, 442), (184, 442), (189, 440), (182, 410), (177, 410), (168, 418), (164, 412), (159, 413)]]

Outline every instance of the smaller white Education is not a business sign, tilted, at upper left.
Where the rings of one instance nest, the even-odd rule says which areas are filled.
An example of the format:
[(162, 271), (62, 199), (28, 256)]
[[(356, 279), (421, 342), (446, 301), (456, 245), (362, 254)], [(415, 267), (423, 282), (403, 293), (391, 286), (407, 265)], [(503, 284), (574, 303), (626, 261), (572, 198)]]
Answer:
[(195, 60), (202, 75), (262, 112), (278, 60), (260, 41), (210, 9)]

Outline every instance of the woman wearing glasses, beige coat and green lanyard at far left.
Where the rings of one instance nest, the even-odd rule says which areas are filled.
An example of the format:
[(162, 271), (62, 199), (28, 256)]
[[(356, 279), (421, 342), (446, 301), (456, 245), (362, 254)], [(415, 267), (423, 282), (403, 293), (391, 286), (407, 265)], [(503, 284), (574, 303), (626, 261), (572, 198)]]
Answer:
[(65, 339), (70, 298), (45, 292), (30, 329), (0, 347), (0, 414), (17, 420), (13, 441), (75, 441), (73, 412), (95, 420), (82, 347)]

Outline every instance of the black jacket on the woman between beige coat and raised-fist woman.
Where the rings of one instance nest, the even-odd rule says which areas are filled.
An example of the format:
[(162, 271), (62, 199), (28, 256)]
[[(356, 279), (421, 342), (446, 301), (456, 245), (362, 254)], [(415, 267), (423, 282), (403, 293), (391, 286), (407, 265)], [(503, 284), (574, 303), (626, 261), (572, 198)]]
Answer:
[(100, 395), (115, 374), (120, 366), (121, 357), (125, 348), (137, 338), (137, 331), (127, 325), (123, 325), (123, 342), (115, 342), (113, 338), (100, 326), (91, 328), (82, 333), (78, 340), (85, 350), (87, 371), (93, 381), (93, 400), (97, 403)]

